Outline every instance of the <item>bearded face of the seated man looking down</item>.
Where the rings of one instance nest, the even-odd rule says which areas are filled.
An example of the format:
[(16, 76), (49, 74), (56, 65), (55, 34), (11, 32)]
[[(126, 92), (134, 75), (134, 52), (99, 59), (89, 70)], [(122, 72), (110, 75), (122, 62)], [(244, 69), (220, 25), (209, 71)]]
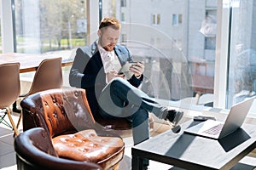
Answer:
[(112, 51), (119, 40), (119, 34), (119, 30), (115, 30), (109, 26), (103, 30), (99, 30), (98, 37), (102, 48), (104, 48), (106, 51)]

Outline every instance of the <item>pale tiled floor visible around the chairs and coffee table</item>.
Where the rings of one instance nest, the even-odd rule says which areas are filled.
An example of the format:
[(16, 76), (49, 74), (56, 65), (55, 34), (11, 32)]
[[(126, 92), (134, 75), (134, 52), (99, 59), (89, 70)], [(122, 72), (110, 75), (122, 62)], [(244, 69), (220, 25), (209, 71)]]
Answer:
[[(19, 114), (13, 113), (13, 119), (15, 123), (19, 119)], [(5, 117), (5, 120), (9, 122), (8, 116)], [(22, 132), (22, 126), (19, 127), (19, 131)], [(154, 132), (152, 135), (156, 135)], [(132, 137), (126, 136), (123, 138), (125, 141), (125, 156), (124, 159), (120, 162), (120, 170), (131, 170), (131, 147), (133, 145)], [(172, 166), (162, 164), (156, 161), (149, 161), (148, 169), (160, 169), (167, 170)], [(13, 131), (10, 127), (5, 126), (3, 123), (0, 123), (0, 169), (3, 170), (15, 170), (16, 161), (15, 161), (15, 149), (14, 149), (14, 138)]]

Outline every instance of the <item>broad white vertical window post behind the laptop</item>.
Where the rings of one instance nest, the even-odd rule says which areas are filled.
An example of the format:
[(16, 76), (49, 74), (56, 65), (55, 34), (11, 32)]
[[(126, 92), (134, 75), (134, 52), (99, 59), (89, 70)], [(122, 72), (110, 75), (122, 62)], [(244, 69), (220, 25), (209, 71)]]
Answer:
[[(213, 107), (226, 108), (228, 54), (230, 46), (230, 2), (218, 0)], [(222, 81), (221, 81), (222, 80)], [(223, 81), (224, 80), (224, 81)]]

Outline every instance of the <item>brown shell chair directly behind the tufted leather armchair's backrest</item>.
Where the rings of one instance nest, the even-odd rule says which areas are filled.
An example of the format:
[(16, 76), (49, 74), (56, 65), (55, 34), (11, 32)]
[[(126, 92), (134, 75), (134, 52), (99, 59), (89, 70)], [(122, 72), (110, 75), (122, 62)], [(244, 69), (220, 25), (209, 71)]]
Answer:
[[(61, 88), (63, 83), (61, 71), (61, 57), (55, 59), (44, 59), (35, 73), (32, 86), (27, 94), (21, 94), (20, 98), (35, 94), (40, 91)], [(20, 114), (17, 127), (20, 125), (22, 113)]]

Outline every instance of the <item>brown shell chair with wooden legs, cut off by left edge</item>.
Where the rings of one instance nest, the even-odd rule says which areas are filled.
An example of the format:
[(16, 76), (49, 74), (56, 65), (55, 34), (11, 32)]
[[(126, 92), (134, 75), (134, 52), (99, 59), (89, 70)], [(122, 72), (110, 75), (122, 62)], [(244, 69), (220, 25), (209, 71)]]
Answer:
[[(15, 136), (19, 134), (18, 127), (11, 116), (10, 105), (12, 105), (20, 95), (20, 63), (9, 63), (0, 65), (0, 109), (5, 110), (0, 122), (5, 122), (4, 116), (9, 116), (11, 127), (15, 131)], [(4, 124), (9, 125), (8, 122)]]

